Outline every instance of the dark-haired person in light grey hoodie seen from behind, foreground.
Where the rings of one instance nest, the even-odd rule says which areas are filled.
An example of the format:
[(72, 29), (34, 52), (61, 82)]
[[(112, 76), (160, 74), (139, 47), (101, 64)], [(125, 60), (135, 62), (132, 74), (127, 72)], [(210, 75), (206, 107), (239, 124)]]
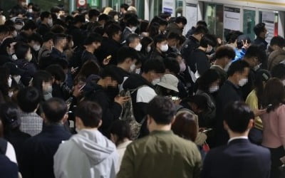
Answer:
[(113, 142), (98, 131), (101, 117), (102, 109), (98, 104), (83, 101), (78, 105), (78, 134), (63, 142), (53, 157), (56, 178), (115, 178), (118, 153)]

